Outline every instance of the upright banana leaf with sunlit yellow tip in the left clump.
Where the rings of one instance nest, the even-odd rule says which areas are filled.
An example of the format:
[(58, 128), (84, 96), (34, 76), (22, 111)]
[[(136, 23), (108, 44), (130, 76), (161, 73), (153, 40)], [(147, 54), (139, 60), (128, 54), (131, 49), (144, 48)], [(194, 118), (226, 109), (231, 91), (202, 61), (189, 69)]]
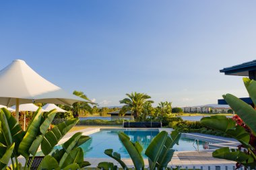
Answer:
[(39, 108), (38, 111), (36, 112), (36, 116), (34, 116), (34, 120), (31, 122), (30, 126), (28, 127), (28, 130), (22, 142), (20, 142), (18, 151), (26, 159), (28, 159), (28, 157), (30, 156), (30, 153), (29, 153), (30, 146), (32, 145), (32, 142), (36, 139), (36, 136), (40, 127), (41, 118), (42, 118), (42, 113)]

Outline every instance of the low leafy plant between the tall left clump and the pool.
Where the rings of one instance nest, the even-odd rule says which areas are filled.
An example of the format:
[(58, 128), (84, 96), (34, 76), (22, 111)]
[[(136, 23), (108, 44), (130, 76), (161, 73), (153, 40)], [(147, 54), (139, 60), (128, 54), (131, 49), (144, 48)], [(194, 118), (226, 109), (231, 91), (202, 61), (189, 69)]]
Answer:
[(42, 159), (40, 169), (80, 169), (89, 166), (90, 163), (84, 161), (84, 151), (79, 146), (90, 139), (89, 136), (82, 136), (82, 132), (75, 133), (67, 142), (63, 144), (61, 150), (57, 149), (51, 155)]

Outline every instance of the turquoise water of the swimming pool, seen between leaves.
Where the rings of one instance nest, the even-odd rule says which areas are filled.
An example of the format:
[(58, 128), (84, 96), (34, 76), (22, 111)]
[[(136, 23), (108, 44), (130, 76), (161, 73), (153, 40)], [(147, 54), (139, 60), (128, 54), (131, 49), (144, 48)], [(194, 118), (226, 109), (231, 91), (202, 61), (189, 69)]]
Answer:
[[(109, 158), (104, 154), (105, 149), (113, 148), (113, 151), (120, 153), (122, 158), (129, 158), (129, 154), (125, 150), (125, 147), (119, 140), (117, 133), (119, 131), (125, 132), (131, 138), (133, 142), (139, 141), (143, 146), (142, 156), (146, 158), (144, 154), (146, 148), (150, 144), (151, 140), (159, 133), (158, 129), (154, 130), (100, 130), (94, 134), (89, 135), (91, 137), (81, 147), (84, 151), (85, 158)], [(202, 151), (205, 142), (199, 140), (199, 150)], [(55, 149), (61, 149), (62, 146), (55, 146)], [(197, 143), (195, 139), (186, 138), (184, 136), (179, 140), (179, 145), (174, 145), (176, 151), (196, 151)], [(38, 153), (40, 155), (40, 153)]]

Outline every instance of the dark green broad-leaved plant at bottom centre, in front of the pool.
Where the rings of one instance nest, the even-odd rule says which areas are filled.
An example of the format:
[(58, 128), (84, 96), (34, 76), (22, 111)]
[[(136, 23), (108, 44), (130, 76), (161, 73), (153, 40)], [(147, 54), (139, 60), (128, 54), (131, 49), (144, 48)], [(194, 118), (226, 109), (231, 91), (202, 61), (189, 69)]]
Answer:
[[(139, 142), (131, 142), (129, 136), (124, 132), (119, 132), (118, 135), (123, 146), (125, 146), (129, 153), (135, 169), (144, 169), (144, 161), (141, 155), (143, 148), (141, 144), (139, 144)], [(181, 133), (177, 130), (172, 131), (170, 136), (167, 132), (162, 131), (152, 140), (152, 142), (150, 142), (145, 152), (145, 155), (148, 157), (148, 162), (150, 163), (150, 169), (163, 169), (167, 167), (174, 153), (172, 147), (174, 144), (179, 144), (180, 137)], [(106, 149), (104, 153), (120, 163), (123, 169), (127, 168), (127, 165), (121, 160), (120, 154), (116, 152), (113, 153), (113, 149)], [(98, 168), (115, 170), (117, 169), (117, 165), (109, 162), (102, 162), (98, 164)]]

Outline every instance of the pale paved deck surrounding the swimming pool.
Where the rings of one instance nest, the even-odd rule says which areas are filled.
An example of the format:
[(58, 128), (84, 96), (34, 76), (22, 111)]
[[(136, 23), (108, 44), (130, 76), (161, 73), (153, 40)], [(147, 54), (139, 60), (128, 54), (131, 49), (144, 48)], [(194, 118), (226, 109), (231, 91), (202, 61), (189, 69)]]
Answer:
[[(83, 130), (77, 130), (74, 132), (69, 132), (67, 133), (60, 141), (59, 144), (62, 144), (63, 142), (67, 141), (73, 134), (76, 132), (82, 132), (83, 135), (90, 135), (95, 132), (99, 132), (100, 129), (122, 129), (119, 127), (103, 127), (103, 126), (97, 126), (97, 127), (90, 127), (90, 128), (84, 128)], [(126, 129), (126, 128), (125, 128)], [(133, 128), (135, 129), (135, 128)], [(139, 128), (141, 129), (141, 128)], [(149, 129), (149, 128), (145, 128)], [(156, 128), (155, 128), (156, 129)], [(170, 133), (172, 131), (171, 128), (159, 128), (160, 131), (165, 130), (166, 132)], [(222, 138), (219, 136), (211, 136), (211, 135), (204, 135), (204, 134), (183, 134), (183, 135), (191, 135), (194, 136), (195, 138), (208, 138), (208, 139), (214, 139), (216, 138), (222, 140), (226, 144), (236, 144), (236, 140), (230, 139), (230, 138)], [(190, 137), (190, 136), (189, 136)], [(222, 144), (222, 143), (218, 143)], [(222, 145), (220, 145), (222, 146)], [(228, 145), (226, 145), (228, 146)], [(233, 146), (233, 145), (230, 145)], [(236, 145), (237, 146), (237, 145)], [(131, 159), (122, 159), (128, 167), (133, 167), (133, 162)], [(24, 165), (24, 160), (22, 158), (19, 159), (19, 161)], [(115, 165), (119, 165), (117, 161), (111, 158), (86, 158), (85, 161), (89, 161), (91, 163), (90, 167), (97, 167), (98, 163), (100, 162), (113, 162)], [(148, 159), (144, 159), (145, 167), (148, 167)], [(172, 161), (168, 164), (168, 167), (177, 167), (181, 166), (183, 168), (198, 168), (200, 169), (203, 167), (203, 169), (208, 169), (210, 167), (211, 169), (215, 169), (216, 166), (220, 166), (221, 169), (233, 169), (233, 166), (236, 164), (234, 161), (227, 161), (225, 159), (216, 159), (212, 157), (212, 151), (181, 151), (181, 152), (175, 152)]]

